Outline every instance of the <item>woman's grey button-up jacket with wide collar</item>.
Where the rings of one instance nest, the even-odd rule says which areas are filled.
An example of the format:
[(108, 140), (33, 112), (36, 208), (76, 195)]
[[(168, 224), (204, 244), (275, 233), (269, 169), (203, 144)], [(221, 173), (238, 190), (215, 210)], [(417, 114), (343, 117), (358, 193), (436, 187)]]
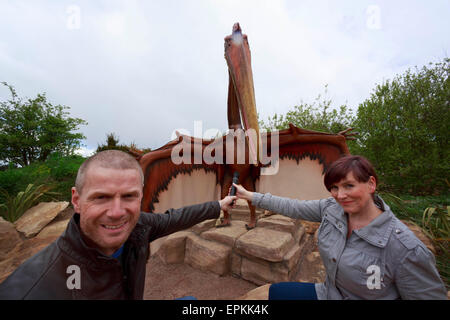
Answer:
[(296, 200), (254, 193), (253, 205), (321, 222), (318, 247), (327, 272), (319, 299), (447, 299), (434, 255), (378, 196), (383, 211), (347, 239), (347, 218), (333, 199)]

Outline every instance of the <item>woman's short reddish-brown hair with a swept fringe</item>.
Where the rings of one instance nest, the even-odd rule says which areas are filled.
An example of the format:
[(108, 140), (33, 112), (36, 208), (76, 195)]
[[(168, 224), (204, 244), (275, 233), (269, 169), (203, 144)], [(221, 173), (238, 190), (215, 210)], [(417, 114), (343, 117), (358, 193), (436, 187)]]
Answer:
[(349, 172), (353, 172), (358, 182), (367, 182), (373, 176), (378, 184), (377, 174), (369, 160), (363, 156), (344, 156), (328, 167), (324, 177), (327, 190), (330, 191), (333, 184), (344, 179)]

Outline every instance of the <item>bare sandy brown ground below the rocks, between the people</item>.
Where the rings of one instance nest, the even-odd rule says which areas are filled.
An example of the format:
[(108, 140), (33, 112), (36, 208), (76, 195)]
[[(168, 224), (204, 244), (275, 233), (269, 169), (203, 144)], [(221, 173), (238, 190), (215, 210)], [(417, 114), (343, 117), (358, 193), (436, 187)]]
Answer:
[(194, 296), (199, 300), (233, 300), (258, 286), (231, 275), (202, 272), (187, 264), (165, 265), (158, 255), (147, 264), (144, 299), (173, 300)]

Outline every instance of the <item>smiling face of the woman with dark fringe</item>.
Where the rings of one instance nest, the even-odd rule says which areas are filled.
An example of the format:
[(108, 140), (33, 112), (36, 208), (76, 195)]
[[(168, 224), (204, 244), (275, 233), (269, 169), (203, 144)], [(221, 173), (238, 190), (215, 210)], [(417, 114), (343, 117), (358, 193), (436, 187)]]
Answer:
[(344, 179), (331, 186), (330, 192), (345, 212), (358, 214), (367, 209), (373, 201), (375, 189), (374, 177), (370, 176), (367, 182), (359, 182), (350, 171)]

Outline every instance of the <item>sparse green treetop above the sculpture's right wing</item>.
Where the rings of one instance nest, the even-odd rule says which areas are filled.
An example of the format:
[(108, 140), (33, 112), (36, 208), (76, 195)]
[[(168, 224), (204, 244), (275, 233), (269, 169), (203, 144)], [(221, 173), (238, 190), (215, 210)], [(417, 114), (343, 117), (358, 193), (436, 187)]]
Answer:
[(354, 116), (346, 105), (336, 110), (331, 107), (332, 101), (326, 98), (325, 93), (317, 96), (313, 103), (302, 102), (296, 105), (285, 115), (275, 114), (267, 121), (260, 120), (259, 125), (267, 131), (283, 130), (289, 128), (289, 123), (308, 129), (327, 133), (338, 133), (352, 126)]

